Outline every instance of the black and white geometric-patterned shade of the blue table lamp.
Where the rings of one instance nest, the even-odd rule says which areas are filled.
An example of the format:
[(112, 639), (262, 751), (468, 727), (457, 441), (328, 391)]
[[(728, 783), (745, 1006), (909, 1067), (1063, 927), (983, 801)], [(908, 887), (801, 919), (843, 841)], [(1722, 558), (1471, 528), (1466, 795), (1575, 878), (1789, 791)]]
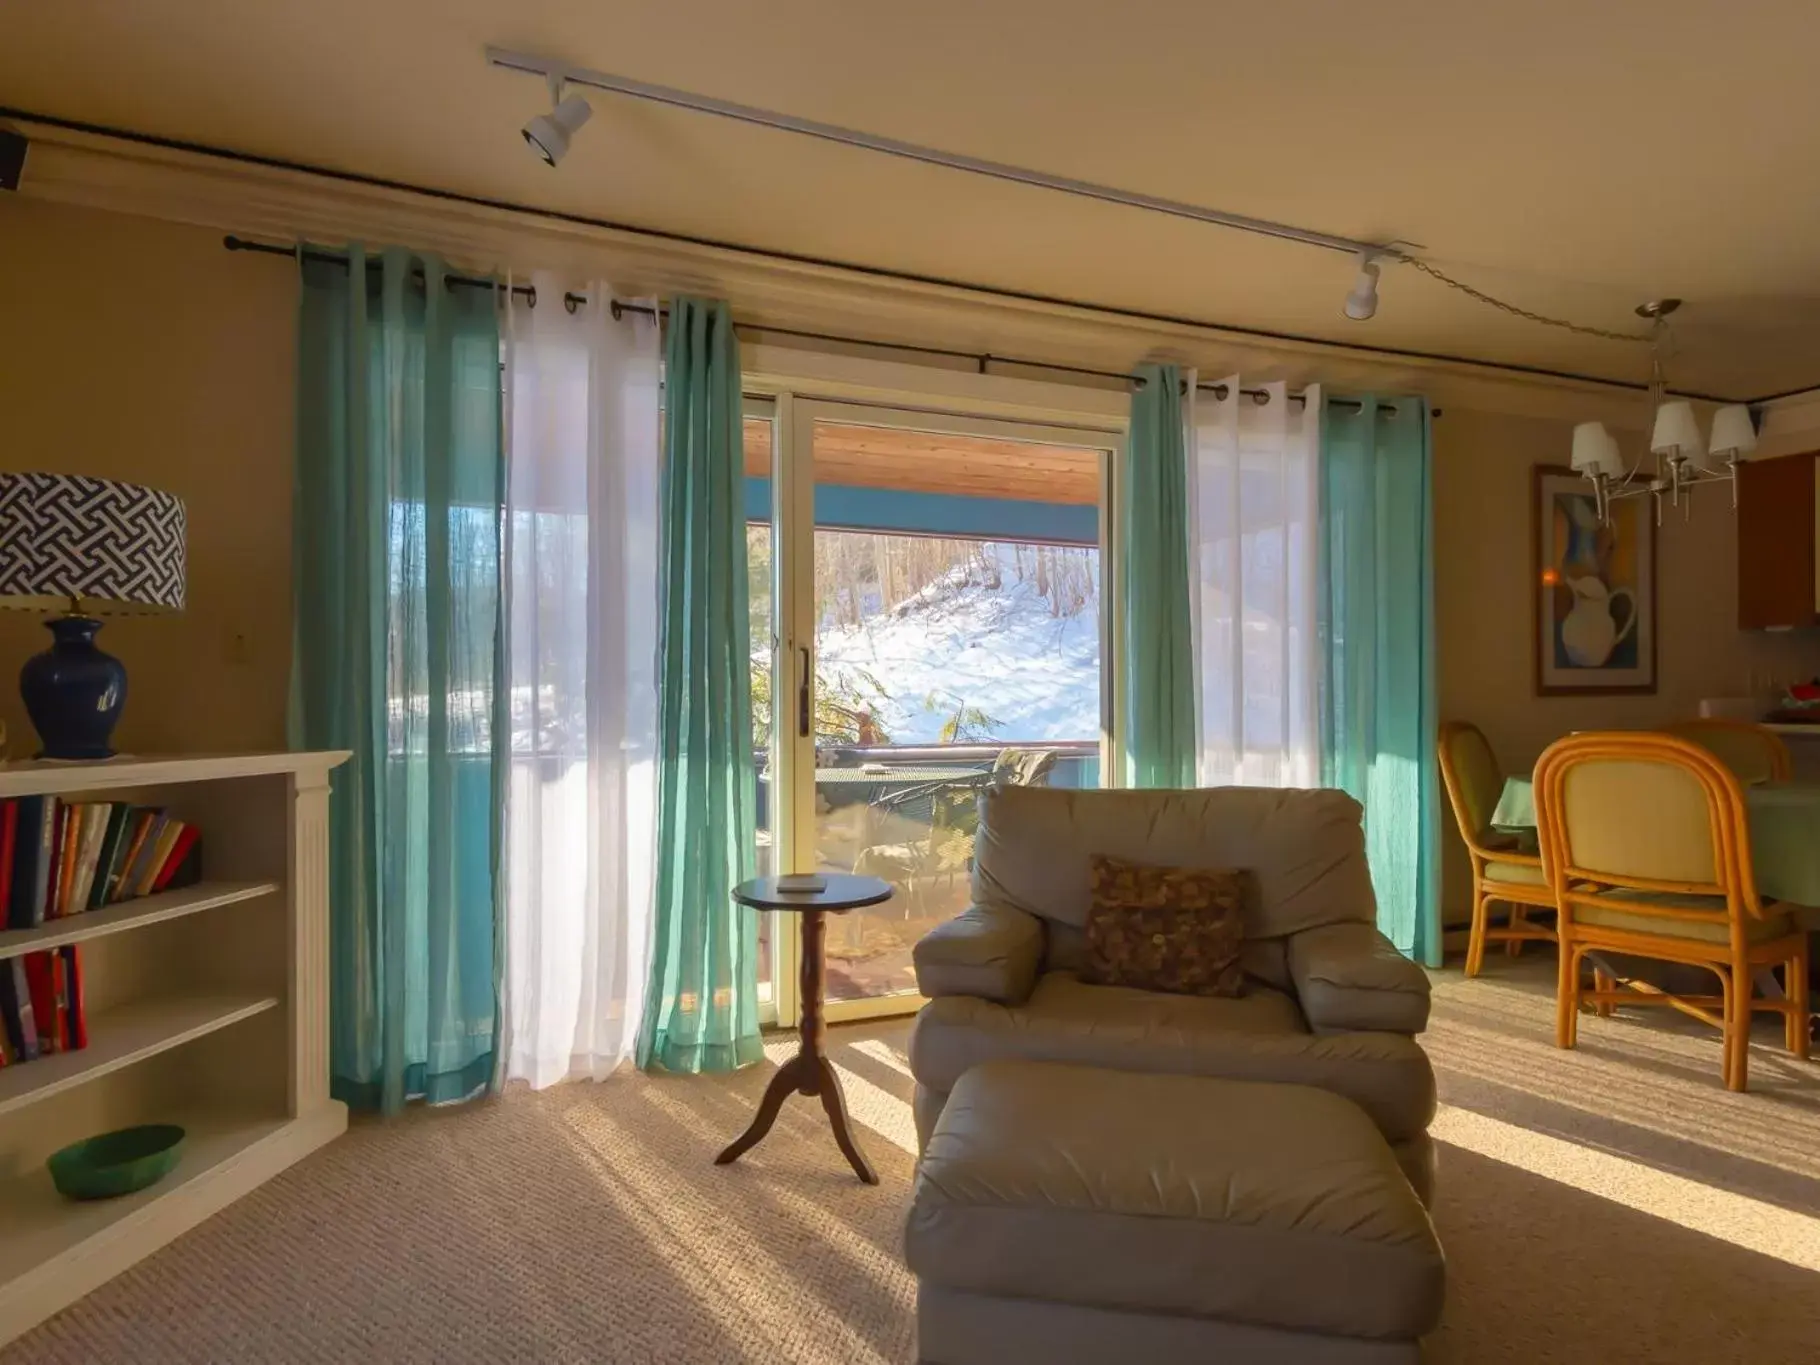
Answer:
[(184, 610), (184, 504), (71, 473), (0, 473), (0, 606)]

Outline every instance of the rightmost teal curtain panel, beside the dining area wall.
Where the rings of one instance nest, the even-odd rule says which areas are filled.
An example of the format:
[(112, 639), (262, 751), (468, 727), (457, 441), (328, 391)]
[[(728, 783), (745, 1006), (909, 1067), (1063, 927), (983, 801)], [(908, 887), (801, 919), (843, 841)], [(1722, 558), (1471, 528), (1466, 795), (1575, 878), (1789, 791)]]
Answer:
[(1365, 806), (1378, 926), (1441, 963), (1429, 406), (1330, 404), (1321, 433), (1321, 781)]

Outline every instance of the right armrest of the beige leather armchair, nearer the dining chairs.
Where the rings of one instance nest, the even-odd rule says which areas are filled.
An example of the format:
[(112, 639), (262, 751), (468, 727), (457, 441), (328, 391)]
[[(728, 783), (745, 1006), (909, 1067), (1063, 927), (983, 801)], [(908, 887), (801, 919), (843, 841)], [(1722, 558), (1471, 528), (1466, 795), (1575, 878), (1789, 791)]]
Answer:
[(1372, 925), (1321, 925), (1289, 935), (1289, 976), (1316, 1034), (1420, 1034), (1429, 974)]

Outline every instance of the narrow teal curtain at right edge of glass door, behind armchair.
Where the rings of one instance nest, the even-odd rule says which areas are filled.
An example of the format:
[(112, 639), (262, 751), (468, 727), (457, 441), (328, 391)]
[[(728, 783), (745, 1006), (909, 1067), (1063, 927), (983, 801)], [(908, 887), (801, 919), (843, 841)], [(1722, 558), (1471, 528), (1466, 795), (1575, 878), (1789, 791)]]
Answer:
[(1139, 366), (1117, 470), (1125, 613), (1125, 781), (1194, 786), (1194, 622), (1188, 612), (1188, 451), (1181, 371)]

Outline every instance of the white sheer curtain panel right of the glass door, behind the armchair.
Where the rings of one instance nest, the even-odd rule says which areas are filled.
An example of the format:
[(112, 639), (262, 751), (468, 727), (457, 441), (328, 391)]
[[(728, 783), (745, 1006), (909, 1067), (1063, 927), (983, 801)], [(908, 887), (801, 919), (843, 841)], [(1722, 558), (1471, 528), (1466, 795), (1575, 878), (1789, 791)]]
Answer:
[[(1203, 786), (1318, 786), (1323, 399), (1190, 375), (1188, 533)], [(1261, 391), (1259, 402), (1247, 393)]]

